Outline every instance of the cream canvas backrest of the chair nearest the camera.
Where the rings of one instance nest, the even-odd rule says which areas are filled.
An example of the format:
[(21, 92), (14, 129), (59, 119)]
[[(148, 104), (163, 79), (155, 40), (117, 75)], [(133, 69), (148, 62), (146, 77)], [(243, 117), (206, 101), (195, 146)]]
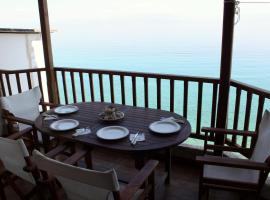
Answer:
[(68, 199), (108, 199), (120, 189), (114, 169), (99, 172), (79, 168), (50, 159), (37, 150), (33, 152), (33, 160), (40, 170), (59, 180)]

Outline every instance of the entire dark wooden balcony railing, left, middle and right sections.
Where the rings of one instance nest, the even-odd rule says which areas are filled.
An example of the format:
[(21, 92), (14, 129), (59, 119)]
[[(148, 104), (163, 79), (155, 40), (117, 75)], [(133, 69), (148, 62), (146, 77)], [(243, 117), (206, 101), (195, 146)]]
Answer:
[[(215, 126), (219, 80), (216, 78), (57, 67), (59, 102), (101, 101), (176, 112), (192, 125), (192, 137), (203, 139), (202, 126)], [(47, 100), (46, 70), (0, 70), (0, 92), (9, 96), (39, 85)], [(26, 84), (27, 83), (27, 84)], [(270, 102), (270, 92), (231, 81), (229, 128), (255, 130)], [(255, 116), (256, 115), (256, 116)], [(248, 147), (249, 138), (227, 144)]]

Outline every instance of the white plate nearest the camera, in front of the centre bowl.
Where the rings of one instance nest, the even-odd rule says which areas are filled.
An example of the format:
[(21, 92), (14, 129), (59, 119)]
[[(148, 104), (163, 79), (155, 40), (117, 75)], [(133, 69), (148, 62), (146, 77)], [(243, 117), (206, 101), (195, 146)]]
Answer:
[(128, 134), (129, 130), (123, 126), (107, 126), (97, 131), (97, 137), (104, 140), (118, 140)]

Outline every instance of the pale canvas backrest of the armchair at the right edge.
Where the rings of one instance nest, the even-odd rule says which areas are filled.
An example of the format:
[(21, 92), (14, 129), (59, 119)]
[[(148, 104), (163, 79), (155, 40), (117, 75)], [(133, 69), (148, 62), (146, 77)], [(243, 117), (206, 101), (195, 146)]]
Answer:
[(266, 110), (259, 126), (258, 139), (250, 159), (264, 162), (268, 156), (270, 156), (270, 112)]

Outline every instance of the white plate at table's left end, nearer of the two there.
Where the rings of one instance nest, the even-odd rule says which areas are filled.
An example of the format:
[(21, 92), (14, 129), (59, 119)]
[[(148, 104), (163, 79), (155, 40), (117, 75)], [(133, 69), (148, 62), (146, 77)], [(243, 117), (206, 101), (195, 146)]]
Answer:
[(75, 119), (61, 119), (53, 122), (50, 128), (55, 131), (68, 131), (79, 126), (79, 122)]

